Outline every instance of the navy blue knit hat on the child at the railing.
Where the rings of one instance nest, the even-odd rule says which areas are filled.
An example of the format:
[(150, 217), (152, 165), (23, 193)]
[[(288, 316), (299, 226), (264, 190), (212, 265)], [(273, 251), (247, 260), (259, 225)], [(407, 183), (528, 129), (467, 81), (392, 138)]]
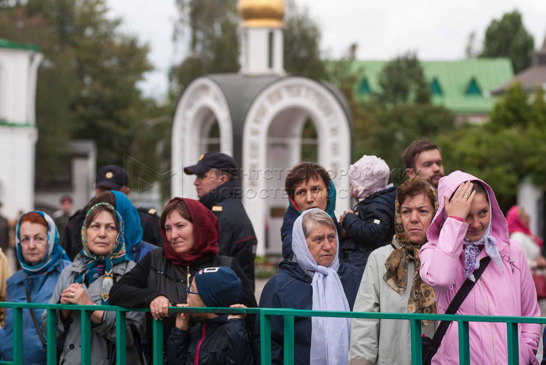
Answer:
[(229, 307), (242, 299), (242, 282), (225, 266), (199, 270), (193, 280), (206, 307)]

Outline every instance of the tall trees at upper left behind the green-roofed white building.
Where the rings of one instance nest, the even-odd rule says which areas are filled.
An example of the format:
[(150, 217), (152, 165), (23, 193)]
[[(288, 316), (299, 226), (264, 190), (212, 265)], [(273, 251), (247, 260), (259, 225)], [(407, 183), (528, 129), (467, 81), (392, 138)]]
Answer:
[[(123, 164), (147, 113), (136, 82), (148, 48), (118, 31), (104, 0), (3, 2), (0, 37), (40, 46), (37, 185), (67, 156), (70, 139), (93, 139), (97, 163)], [(13, 5), (13, 6), (11, 6)]]

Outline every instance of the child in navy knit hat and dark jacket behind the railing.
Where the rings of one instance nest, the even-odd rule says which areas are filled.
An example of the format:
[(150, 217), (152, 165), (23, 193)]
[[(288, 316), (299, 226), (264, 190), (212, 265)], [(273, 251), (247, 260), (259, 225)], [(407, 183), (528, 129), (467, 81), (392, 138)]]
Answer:
[[(242, 282), (228, 267), (199, 270), (186, 291), (189, 307), (246, 308), (236, 304), (242, 298)], [(167, 364), (252, 365), (245, 316), (177, 313), (167, 340)]]

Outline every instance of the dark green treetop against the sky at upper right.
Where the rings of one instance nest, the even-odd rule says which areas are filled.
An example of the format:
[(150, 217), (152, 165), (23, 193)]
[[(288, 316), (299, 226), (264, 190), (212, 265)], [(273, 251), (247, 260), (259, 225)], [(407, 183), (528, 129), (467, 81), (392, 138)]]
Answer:
[(535, 39), (527, 32), (518, 10), (506, 13), (501, 20), (494, 19), (485, 31), (480, 57), (509, 57), (514, 72), (531, 66)]

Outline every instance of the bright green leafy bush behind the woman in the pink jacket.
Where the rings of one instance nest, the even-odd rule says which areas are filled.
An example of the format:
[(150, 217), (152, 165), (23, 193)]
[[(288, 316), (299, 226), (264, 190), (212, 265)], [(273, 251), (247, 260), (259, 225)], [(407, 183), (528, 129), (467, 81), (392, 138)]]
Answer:
[(438, 134), (446, 171), (464, 170), (488, 182), (506, 211), (523, 178), (531, 176), (546, 187), (545, 112), (542, 89), (529, 102), (521, 85), (514, 84), (491, 111), (490, 123)]

